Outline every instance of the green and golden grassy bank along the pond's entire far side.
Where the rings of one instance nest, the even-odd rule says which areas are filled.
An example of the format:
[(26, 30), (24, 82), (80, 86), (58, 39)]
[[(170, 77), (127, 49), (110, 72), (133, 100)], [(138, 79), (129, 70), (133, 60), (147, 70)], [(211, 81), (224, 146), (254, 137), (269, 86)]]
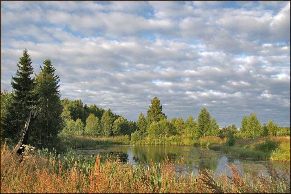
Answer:
[(129, 136), (114, 137), (86, 137), (86, 136), (59, 136), (57, 150), (59, 153), (67, 152), (70, 148), (94, 147), (98, 145), (131, 144), (131, 145), (203, 145), (210, 149), (238, 157), (253, 159), (270, 159), (290, 161), (290, 137), (259, 137), (235, 140), (233, 146), (226, 146), (226, 140), (214, 136), (201, 137), (198, 140), (171, 136), (151, 140), (148, 137), (132, 141)]

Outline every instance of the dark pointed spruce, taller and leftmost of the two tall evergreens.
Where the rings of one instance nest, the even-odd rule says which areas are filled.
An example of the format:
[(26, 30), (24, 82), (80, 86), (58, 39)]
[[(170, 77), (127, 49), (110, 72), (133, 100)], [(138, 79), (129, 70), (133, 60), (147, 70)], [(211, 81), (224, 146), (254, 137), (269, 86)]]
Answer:
[(22, 52), (17, 63), (17, 71), (12, 76), (11, 86), (14, 95), (9, 107), (10, 111), (3, 118), (1, 128), (3, 127), (3, 137), (17, 142), (22, 135), (24, 124), (29, 115), (32, 106), (35, 104), (35, 98), (32, 93), (34, 83), (31, 74), (33, 74), (33, 66), (27, 48)]

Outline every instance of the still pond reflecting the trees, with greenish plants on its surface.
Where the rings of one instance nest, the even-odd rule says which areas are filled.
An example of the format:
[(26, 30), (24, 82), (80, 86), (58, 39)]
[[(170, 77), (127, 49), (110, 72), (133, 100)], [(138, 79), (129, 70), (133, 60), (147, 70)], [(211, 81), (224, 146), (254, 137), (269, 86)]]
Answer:
[[(77, 154), (83, 156), (91, 156), (91, 154), (98, 153), (110, 155), (116, 157), (118, 154), (122, 162), (129, 162), (137, 165), (151, 165), (151, 163), (162, 163), (162, 161), (169, 158), (169, 161), (173, 159), (173, 162), (178, 164), (178, 161), (184, 156), (184, 165), (188, 172), (198, 173), (198, 170), (194, 168), (197, 166), (201, 169), (207, 168), (220, 174), (226, 171), (226, 174), (230, 175), (230, 168), (226, 165), (233, 163), (240, 169), (242, 166), (243, 172), (254, 173), (258, 175), (262, 169), (263, 175), (268, 175), (267, 165), (281, 172), (283, 162), (272, 160), (258, 160), (250, 158), (235, 157), (228, 154), (224, 154), (220, 151), (210, 150), (206, 146), (194, 146), (194, 145), (102, 145), (98, 147), (79, 148), (74, 150)], [(178, 165), (177, 165), (178, 166)], [(290, 170), (290, 162), (288, 162)]]

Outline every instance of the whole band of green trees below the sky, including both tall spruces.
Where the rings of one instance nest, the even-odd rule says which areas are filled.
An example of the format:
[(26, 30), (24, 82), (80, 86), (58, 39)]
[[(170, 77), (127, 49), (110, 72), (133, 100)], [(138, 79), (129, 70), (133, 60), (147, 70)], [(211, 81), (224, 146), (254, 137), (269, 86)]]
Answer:
[(12, 76), (13, 90), (1, 92), (1, 140), (17, 142), (31, 109), (39, 110), (29, 134), (29, 143), (53, 146), (58, 134), (79, 136), (128, 135), (132, 140), (149, 137), (152, 140), (180, 136), (198, 139), (202, 136), (221, 138), (255, 138), (259, 136), (290, 136), (290, 127), (279, 127), (269, 120), (261, 126), (255, 113), (242, 118), (238, 131), (233, 124), (219, 129), (215, 118), (205, 107), (201, 108), (197, 120), (193, 115), (183, 118), (167, 118), (157, 97), (151, 100), (146, 116), (141, 112), (136, 122), (128, 121), (111, 109), (83, 104), (81, 99), (60, 99), (59, 76), (49, 59), (43, 60), (40, 73), (33, 74), (32, 60), (27, 48), (17, 63), (18, 70)]

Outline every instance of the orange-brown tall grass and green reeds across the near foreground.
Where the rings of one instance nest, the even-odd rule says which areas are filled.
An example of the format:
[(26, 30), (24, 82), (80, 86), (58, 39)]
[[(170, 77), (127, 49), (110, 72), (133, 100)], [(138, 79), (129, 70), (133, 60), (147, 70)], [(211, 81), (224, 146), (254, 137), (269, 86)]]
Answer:
[(0, 154), (1, 193), (290, 193), (288, 170), (278, 175), (269, 168), (271, 178), (247, 178), (232, 164), (228, 176), (184, 173), (183, 158), (176, 172), (169, 159), (146, 168), (99, 155), (80, 160), (71, 153), (65, 159), (33, 147), (17, 156), (2, 145)]

